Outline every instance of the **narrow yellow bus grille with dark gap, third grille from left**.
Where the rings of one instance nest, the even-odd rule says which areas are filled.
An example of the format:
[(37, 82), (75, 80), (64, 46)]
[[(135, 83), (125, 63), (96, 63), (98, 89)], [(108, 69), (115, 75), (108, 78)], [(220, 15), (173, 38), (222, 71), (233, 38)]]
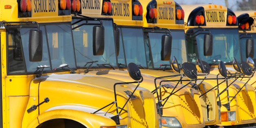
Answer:
[[(206, 95), (203, 95), (201, 100), (201, 107), (202, 107), (202, 113), (204, 120), (207, 121), (214, 121), (216, 117), (216, 97), (215, 97), (215, 91), (211, 90)], [(205, 104), (206, 103), (206, 104)]]

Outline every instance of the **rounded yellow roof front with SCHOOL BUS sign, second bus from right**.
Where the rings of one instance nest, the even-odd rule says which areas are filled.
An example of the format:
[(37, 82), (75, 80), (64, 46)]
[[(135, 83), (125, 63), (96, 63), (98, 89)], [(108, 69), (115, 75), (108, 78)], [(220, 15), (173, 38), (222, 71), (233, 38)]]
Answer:
[[(227, 7), (216, 4), (193, 4), (193, 5), (181, 5), (184, 9), (185, 17), (184, 22), (187, 27), (200, 26), (200, 27), (212, 27), (212, 28), (237, 28), (236, 15)], [(196, 16), (202, 15), (202, 24), (196, 24)], [(231, 16), (231, 20), (228, 17)], [(229, 18), (230, 19), (230, 18)], [(234, 23), (232, 22), (234, 19)], [(230, 22), (231, 21), (231, 22)], [(230, 22), (230, 24), (229, 24)]]

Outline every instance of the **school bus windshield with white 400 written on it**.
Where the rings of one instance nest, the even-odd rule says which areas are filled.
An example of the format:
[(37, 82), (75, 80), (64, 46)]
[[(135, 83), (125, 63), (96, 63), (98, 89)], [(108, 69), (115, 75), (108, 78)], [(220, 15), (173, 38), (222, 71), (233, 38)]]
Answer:
[[(232, 64), (234, 57), (241, 62), (241, 51), (237, 29), (209, 29), (213, 35), (213, 51), (211, 56), (203, 55), (204, 34), (196, 36), (196, 40), (187, 38), (188, 61), (196, 62), (197, 58), (208, 64), (218, 64), (223, 61)], [(197, 47), (196, 47), (197, 46)], [(197, 50), (198, 49), (198, 50)], [(197, 52), (198, 51), (198, 52)]]

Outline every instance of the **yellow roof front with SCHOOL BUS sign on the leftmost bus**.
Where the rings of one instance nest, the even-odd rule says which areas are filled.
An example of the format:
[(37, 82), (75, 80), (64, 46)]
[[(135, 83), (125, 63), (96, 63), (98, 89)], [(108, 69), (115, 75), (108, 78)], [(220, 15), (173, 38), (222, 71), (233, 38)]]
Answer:
[[(22, 8), (20, 4), (25, 6)], [(70, 9), (60, 10), (58, 0), (30, 0), (30, 4), (26, 0), (0, 0), (0, 5), (0, 21), (38, 23), (71, 21)]]

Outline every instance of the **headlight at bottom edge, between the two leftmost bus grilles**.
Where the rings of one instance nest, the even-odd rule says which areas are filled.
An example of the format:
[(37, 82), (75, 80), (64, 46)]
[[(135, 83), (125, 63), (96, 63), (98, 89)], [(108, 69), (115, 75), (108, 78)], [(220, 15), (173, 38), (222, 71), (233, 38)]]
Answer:
[(162, 117), (161, 124), (168, 128), (181, 128), (181, 124), (175, 117)]

